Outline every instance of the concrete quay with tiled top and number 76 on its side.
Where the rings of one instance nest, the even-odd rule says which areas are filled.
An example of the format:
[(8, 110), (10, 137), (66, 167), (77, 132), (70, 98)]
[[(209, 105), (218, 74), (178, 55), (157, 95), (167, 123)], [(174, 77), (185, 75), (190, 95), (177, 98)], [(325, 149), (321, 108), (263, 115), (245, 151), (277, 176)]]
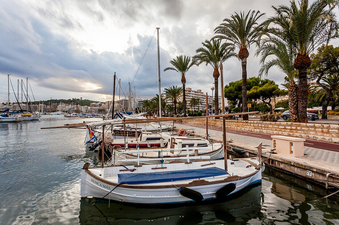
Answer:
[[(176, 128), (194, 129), (194, 135), (196, 136), (206, 136), (206, 128), (202, 125), (176, 123), (175, 126)], [(208, 134), (210, 139), (222, 141), (222, 131), (220, 131), (220, 128), (209, 126)], [(227, 147), (227, 151), (240, 157), (254, 157), (258, 154), (255, 147), (257, 147), (258, 144), (262, 142), (262, 159), (267, 159), (264, 162), (265, 166), (272, 167), (282, 172), (286, 172), (312, 182), (320, 183), (322, 185), (326, 185), (326, 182), (321, 180), (328, 180), (329, 182), (327, 182), (327, 184), (329, 187), (339, 187), (339, 183), (331, 182), (339, 181), (338, 144), (327, 143), (331, 146), (330, 148), (327, 147), (329, 150), (325, 150), (326, 147), (325, 149), (322, 147), (326, 146), (326, 142), (319, 142), (318, 146), (320, 148), (307, 147), (305, 144), (304, 156), (292, 157), (279, 153), (269, 153), (273, 145), (272, 139), (269, 140), (267, 137), (263, 139), (259, 134), (257, 136), (258, 138), (255, 136), (255, 134), (250, 134), (245, 131), (239, 133), (236, 131), (231, 132), (231, 130), (227, 130), (226, 138), (233, 140), (232, 143), (230, 143)], [(234, 152), (232, 148), (243, 151), (240, 151), (240, 153), (238, 151), (237, 153)], [(310, 189), (309, 187), (307, 188)]]

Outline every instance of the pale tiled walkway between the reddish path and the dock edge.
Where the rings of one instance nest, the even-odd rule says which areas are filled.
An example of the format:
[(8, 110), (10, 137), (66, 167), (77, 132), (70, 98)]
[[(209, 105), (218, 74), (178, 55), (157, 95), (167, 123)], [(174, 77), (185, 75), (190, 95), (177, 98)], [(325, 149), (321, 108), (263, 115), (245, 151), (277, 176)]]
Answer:
[[(195, 125), (195, 124), (188, 124), (188, 123), (175, 123), (175, 126), (177, 128), (186, 128), (186, 129), (194, 129), (197, 134), (206, 134), (206, 128), (200, 125)], [(222, 137), (222, 131), (220, 131), (220, 128), (218, 127), (209, 127), (208, 129), (208, 134), (210, 136), (217, 136), (217, 137)], [(261, 135), (257, 135), (245, 131), (238, 131), (238, 130), (230, 130), (227, 129), (227, 134), (226, 134), (227, 139), (231, 139), (234, 141), (239, 141), (251, 145), (258, 145), (260, 142), (262, 142), (263, 147), (265, 148), (272, 148), (273, 142), (272, 140), (269, 139), (263, 139)], [(307, 141), (307, 140), (306, 140)], [(334, 145), (336, 149), (333, 150), (339, 150), (339, 145)], [(324, 150), (324, 149), (319, 149), (319, 148), (313, 148), (313, 147), (307, 147), (306, 144), (304, 146), (304, 154), (305, 157), (308, 158), (313, 158), (313, 159), (318, 159), (322, 161), (326, 161), (328, 163), (334, 163), (334, 164), (339, 164), (339, 152), (337, 151), (330, 151), (330, 150)]]

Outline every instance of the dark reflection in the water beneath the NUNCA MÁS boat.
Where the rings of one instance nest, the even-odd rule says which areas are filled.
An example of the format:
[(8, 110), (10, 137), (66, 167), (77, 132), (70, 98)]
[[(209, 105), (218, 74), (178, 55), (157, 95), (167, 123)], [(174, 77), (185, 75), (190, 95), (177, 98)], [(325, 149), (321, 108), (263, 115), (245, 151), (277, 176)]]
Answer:
[[(247, 223), (261, 217), (261, 185), (247, 187), (227, 202), (212, 204), (135, 205), (82, 199), (80, 224), (199, 224)], [(214, 204), (213, 204), (214, 203)]]

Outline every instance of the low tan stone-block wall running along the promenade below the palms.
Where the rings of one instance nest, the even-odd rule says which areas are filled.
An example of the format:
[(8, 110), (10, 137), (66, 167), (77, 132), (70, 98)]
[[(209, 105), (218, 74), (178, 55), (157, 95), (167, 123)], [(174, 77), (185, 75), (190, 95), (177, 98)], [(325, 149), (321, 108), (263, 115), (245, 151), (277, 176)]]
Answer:
[[(206, 125), (205, 119), (185, 120), (187, 123)], [(208, 119), (208, 124), (221, 127), (221, 119)], [(339, 143), (338, 124), (263, 122), (226, 120), (226, 128), (272, 135), (292, 136), (315, 141)]]

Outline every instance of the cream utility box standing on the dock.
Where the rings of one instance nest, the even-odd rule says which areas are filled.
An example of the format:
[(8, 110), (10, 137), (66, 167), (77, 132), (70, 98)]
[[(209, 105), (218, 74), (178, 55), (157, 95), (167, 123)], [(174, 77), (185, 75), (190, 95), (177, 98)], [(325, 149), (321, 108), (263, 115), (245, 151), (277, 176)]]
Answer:
[(288, 136), (272, 135), (273, 148), (276, 153), (293, 157), (304, 156), (304, 138), (292, 138)]

